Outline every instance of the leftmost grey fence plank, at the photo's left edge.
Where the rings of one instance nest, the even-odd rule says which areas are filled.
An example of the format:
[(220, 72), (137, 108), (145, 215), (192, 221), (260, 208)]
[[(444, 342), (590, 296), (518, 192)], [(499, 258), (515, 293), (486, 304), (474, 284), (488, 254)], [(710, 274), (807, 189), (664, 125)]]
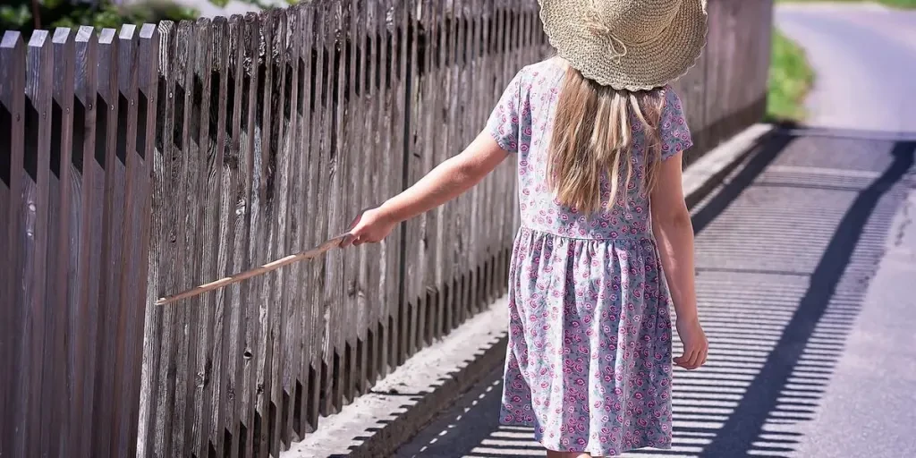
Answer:
[(20, 256), (22, 224), (23, 154), (26, 114), (26, 44), (19, 32), (6, 31), (0, 39), (0, 215), (6, 221), (0, 232), (0, 247), (9, 256), (0, 266), (0, 454), (21, 455), (23, 430), (17, 428), (22, 418), (21, 396), (24, 386), (22, 366), (24, 329), (21, 326), (24, 307), (16, 285), (23, 284), (25, 271)]

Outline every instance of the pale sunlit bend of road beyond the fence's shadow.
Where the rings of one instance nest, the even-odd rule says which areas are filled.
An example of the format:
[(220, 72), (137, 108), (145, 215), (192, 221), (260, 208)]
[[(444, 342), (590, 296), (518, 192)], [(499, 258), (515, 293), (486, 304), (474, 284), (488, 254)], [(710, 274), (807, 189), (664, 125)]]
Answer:
[(817, 71), (812, 124), (916, 132), (916, 10), (780, 5), (776, 24)]

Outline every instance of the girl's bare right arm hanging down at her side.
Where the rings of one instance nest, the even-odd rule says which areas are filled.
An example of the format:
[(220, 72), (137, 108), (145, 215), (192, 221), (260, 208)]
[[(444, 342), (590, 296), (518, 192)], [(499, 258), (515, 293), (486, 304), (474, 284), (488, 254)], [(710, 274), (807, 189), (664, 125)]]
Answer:
[(682, 189), (682, 153), (663, 160), (657, 185), (650, 196), (652, 232), (659, 244), (662, 270), (674, 312), (684, 354), (678, 365), (693, 369), (703, 365), (708, 345), (696, 309), (693, 270), (693, 224)]

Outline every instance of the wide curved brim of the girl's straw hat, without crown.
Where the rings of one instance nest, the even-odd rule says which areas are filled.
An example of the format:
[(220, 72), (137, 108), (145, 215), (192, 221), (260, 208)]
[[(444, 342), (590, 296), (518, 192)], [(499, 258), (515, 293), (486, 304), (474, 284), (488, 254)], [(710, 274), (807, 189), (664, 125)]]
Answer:
[(627, 45), (627, 54), (619, 59), (612, 59), (613, 38), (595, 37), (584, 26), (587, 0), (539, 3), (544, 32), (560, 57), (585, 78), (616, 90), (648, 91), (678, 80), (696, 64), (706, 45), (706, 0), (682, 0), (658, 37)]

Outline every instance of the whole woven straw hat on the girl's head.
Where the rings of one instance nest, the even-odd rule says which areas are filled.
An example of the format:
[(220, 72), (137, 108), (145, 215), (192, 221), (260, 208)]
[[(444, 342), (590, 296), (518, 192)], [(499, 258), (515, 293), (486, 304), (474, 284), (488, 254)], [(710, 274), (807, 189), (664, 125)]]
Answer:
[(585, 78), (628, 91), (681, 78), (706, 44), (706, 0), (539, 0), (544, 32)]

